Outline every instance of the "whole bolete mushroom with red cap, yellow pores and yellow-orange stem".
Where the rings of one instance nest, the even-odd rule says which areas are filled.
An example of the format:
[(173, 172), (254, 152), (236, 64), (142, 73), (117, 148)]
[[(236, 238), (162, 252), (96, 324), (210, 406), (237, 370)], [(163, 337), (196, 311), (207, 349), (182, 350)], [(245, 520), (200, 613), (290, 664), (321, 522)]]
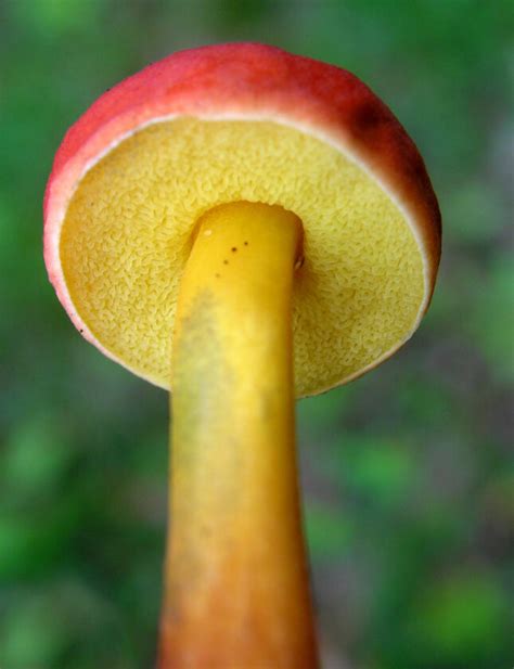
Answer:
[(86, 339), (172, 389), (162, 669), (317, 666), (294, 399), (409, 339), (439, 253), (413, 142), (332, 65), (183, 51), (68, 130), (50, 280)]

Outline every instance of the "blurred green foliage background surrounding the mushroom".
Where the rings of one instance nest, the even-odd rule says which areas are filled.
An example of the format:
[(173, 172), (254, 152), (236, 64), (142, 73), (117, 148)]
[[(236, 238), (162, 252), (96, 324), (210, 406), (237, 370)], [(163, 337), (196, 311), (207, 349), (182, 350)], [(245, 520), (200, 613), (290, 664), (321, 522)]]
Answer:
[(445, 223), (413, 340), (298, 407), (323, 666), (512, 668), (513, 18), (502, 0), (0, 1), (1, 669), (152, 667), (167, 397), (72, 326), (41, 201), (66, 128), (107, 87), (247, 39), (367, 81), (417, 143)]

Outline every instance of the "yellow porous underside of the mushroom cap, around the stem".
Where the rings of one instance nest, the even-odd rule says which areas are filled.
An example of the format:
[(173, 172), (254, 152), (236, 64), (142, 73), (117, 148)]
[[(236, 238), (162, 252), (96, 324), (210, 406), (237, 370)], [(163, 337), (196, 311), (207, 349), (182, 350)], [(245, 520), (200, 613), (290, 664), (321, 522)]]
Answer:
[(97, 163), (63, 224), (72, 300), (123, 364), (169, 388), (195, 223), (237, 201), (280, 204), (304, 223), (293, 297), (297, 396), (344, 383), (411, 334), (424, 298), (422, 255), (371, 177), (288, 126), (183, 117), (136, 132)]

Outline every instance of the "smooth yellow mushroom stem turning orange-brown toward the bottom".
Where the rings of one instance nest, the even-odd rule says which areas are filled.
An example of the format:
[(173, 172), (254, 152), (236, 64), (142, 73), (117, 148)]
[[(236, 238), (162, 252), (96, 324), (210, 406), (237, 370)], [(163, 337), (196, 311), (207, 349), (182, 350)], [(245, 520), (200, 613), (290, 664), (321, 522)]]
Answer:
[(159, 669), (318, 666), (299, 510), (292, 292), (299, 219), (203, 216), (174, 339)]

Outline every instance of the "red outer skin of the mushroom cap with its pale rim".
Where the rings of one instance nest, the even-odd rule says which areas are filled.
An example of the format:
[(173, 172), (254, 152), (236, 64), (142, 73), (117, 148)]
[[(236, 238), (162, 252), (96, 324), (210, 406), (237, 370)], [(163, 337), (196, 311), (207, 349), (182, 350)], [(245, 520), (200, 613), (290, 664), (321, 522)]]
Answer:
[[(352, 74), (274, 47), (229, 43), (174, 53), (107, 90), (68, 130), (55, 155), (44, 196), (44, 259), (62, 304), (89, 340), (124, 363), (91, 333), (69, 295), (60, 257), (68, 205), (85, 175), (124, 140), (180, 117), (275, 121), (318, 138), (358, 165), (402, 211), (421, 249), (425, 290), (417, 325), (439, 262), (440, 214), (412, 140)], [(381, 362), (402, 342), (348, 378)]]

